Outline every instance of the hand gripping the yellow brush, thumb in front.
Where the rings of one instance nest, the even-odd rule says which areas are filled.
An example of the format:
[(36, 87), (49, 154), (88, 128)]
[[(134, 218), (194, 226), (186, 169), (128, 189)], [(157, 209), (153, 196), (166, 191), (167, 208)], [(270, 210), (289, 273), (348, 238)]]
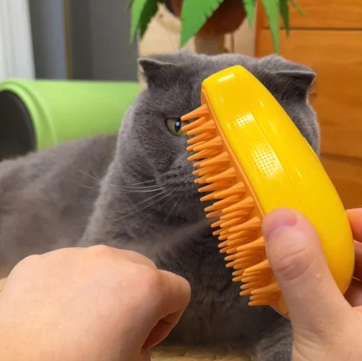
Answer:
[(278, 209), (264, 219), (267, 256), (291, 321), (293, 361), (362, 359), (362, 209), (347, 213), (356, 264), (355, 279), (345, 297), (306, 218), (296, 211)]

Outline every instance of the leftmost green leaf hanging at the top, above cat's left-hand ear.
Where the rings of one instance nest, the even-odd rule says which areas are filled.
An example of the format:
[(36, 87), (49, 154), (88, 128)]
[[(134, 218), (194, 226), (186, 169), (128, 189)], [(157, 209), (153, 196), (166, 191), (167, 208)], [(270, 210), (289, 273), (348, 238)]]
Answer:
[(157, 12), (157, 0), (132, 0), (131, 7), (130, 41), (133, 42), (137, 29), (140, 29), (141, 38), (144, 35), (151, 18)]

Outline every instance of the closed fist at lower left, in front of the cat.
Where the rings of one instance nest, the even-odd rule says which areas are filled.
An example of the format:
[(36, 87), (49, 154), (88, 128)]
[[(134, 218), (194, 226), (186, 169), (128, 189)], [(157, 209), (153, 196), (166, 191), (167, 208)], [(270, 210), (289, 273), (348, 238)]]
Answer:
[(182, 277), (98, 245), (19, 262), (0, 293), (0, 359), (143, 361), (190, 299)]

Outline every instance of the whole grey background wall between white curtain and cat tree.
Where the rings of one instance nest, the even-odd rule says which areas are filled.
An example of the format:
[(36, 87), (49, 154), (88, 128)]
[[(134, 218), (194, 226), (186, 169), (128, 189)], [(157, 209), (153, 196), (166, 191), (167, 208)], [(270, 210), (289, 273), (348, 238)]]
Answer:
[[(15, 0), (17, 1), (17, 0)], [(135, 80), (127, 0), (31, 0), (37, 78)]]

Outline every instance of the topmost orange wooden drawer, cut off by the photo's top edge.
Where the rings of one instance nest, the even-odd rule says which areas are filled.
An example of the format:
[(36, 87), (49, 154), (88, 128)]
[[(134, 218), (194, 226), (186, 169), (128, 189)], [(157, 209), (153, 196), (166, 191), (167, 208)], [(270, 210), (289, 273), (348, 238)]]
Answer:
[[(361, 0), (297, 0), (297, 3), (306, 16), (289, 5), (291, 28), (362, 29)], [(263, 10), (260, 15), (261, 26), (267, 28)]]

